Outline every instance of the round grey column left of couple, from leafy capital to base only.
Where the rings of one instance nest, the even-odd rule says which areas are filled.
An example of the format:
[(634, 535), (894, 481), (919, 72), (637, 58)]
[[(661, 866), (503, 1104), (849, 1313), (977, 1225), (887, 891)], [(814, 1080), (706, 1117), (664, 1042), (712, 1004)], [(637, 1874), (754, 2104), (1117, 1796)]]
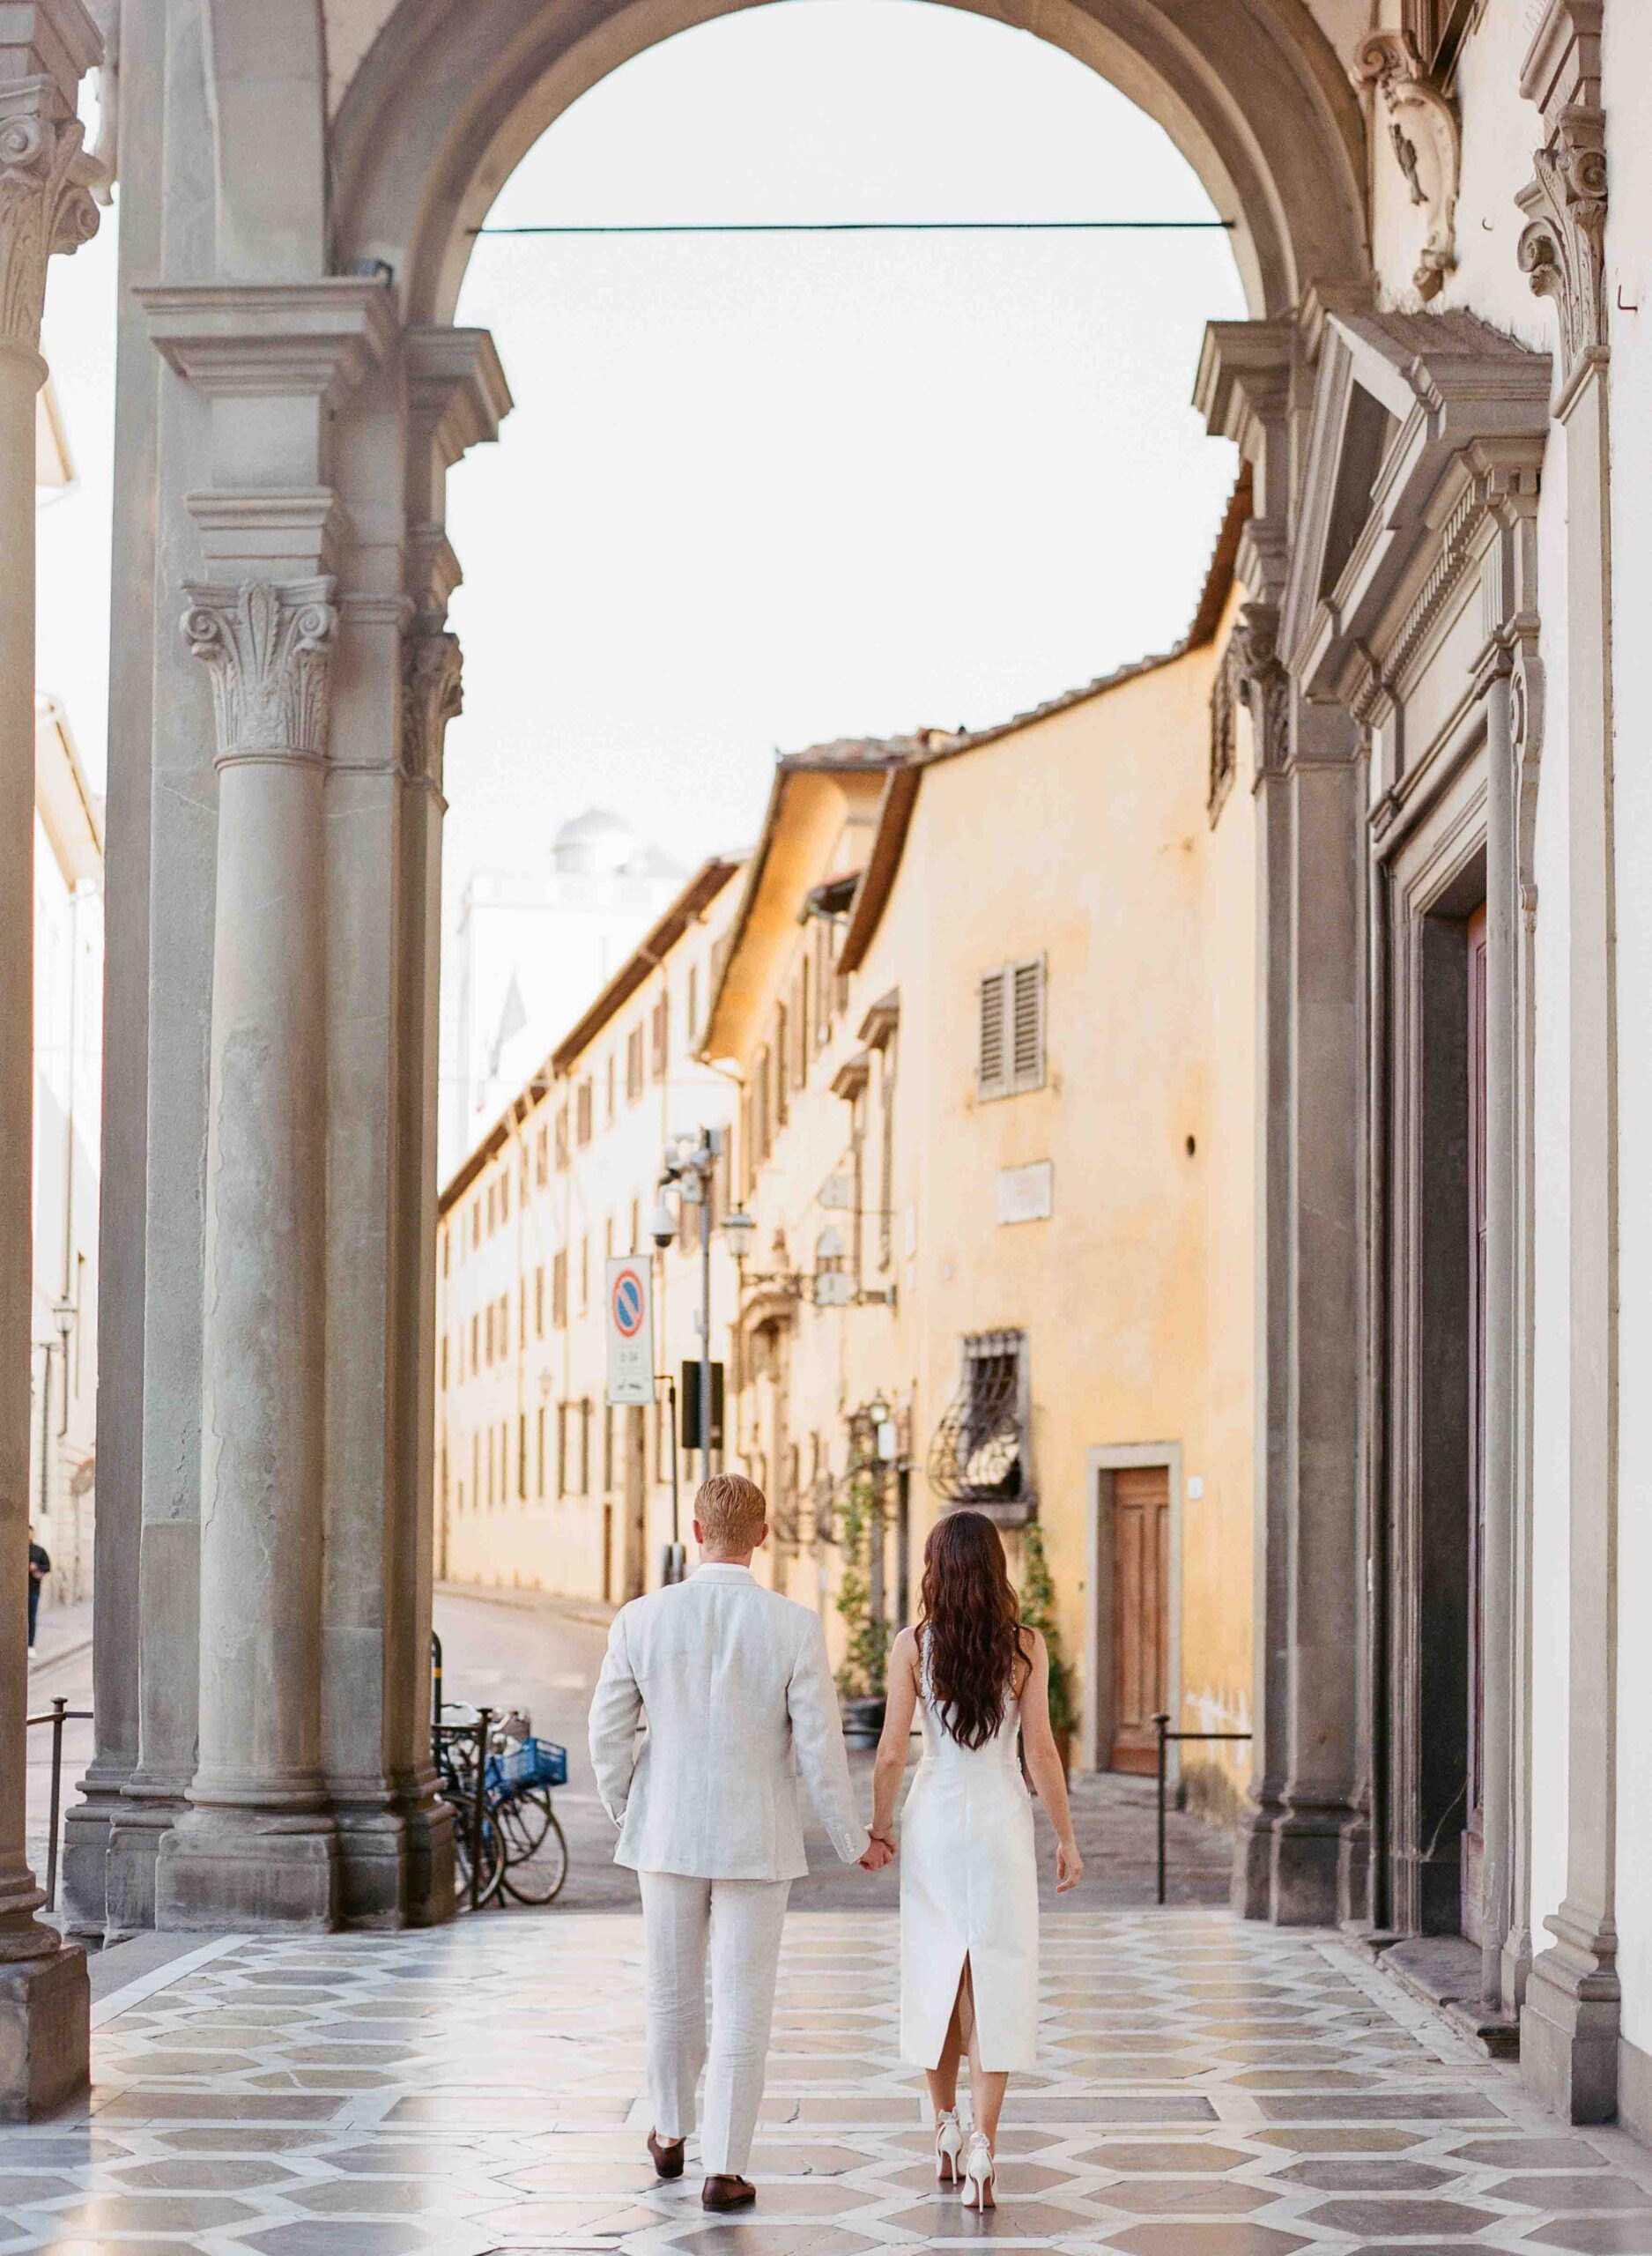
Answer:
[(329, 1927), (320, 1791), (320, 794), (332, 580), (192, 584), (219, 735), (201, 1762), (158, 1924)]

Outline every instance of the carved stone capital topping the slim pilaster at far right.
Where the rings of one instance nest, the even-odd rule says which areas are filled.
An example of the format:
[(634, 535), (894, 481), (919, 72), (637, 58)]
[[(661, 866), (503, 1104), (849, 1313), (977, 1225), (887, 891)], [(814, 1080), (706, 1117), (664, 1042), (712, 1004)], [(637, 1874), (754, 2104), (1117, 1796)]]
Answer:
[(1559, 316), (1559, 399), (1607, 356), (1607, 115), (1600, 106), (1602, 0), (1550, 0), (1521, 65), (1521, 95), (1544, 113), (1544, 147), (1517, 194), (1521, 273)]

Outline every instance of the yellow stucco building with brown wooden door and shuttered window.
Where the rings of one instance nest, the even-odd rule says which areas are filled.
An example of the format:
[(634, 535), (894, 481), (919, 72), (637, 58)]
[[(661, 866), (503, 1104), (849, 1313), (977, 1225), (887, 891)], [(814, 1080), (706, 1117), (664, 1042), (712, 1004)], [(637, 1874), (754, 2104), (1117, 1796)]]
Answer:
[[(1169, 656), (1000, 729), (783, 758), (704, 1040), (740, 1076), (733, 1446), (776, 1584), (862, 1690), (855, 1584), (910, 1618), (932, 1516), (979, 1505), (1022, 1577), (1043, 1548), (1086, 1766), (1151, 1766), (1160, 1703), (1253, 1710), (1244, 508)], [(1246, 1773), (1185, 1753), (1210, 1807)]]

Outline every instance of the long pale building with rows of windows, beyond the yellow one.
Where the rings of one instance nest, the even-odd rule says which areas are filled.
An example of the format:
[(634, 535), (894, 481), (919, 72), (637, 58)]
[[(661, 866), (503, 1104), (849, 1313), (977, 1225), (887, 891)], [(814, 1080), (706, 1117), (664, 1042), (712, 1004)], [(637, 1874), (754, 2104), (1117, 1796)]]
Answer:
[[(706, 862), (688, 880), (442, 1191), (438, 1579), (623, 1604), (661, 1579), (673, 1466), (688, 1536), (697, 1460), (673, 1451), (670, 1387), (700, 1354), (700, 1252), (691, 1216), (668, 1252), (650, 1220), (668, 1146), (722, 1133), (733, 1110), (697, 1047), (736, 878), (736, 862)], [(650, 1408), (605, 1401), (618, 1254), (652, 1270)], [(715, 1340), (733, 1308), (720, 1232), (711, 1261)]]

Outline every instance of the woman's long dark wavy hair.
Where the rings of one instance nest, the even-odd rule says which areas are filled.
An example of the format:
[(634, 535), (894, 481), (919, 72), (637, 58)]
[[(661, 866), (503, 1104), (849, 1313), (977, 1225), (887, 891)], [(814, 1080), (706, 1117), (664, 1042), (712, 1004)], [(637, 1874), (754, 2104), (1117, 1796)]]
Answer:
[(1025, 1647), (1004, 1545), (982, 1512), (948, 1512), (930, 1530), (919, 1645), (943, 1726), (959, 1746), (986, 1746), (1004, 1721)]

